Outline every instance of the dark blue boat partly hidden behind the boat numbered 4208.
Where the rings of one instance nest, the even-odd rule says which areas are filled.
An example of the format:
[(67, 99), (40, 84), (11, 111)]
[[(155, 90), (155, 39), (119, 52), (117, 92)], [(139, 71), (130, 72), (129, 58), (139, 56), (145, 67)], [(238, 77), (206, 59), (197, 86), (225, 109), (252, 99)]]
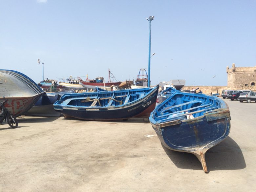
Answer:
[(75, 93), (73, 89), (55, 93), (44, 93), (34, 106), (25, 114), (29, 116), (60, 117), (60, 112), (53, 109), (53, 103), (64, 94)]

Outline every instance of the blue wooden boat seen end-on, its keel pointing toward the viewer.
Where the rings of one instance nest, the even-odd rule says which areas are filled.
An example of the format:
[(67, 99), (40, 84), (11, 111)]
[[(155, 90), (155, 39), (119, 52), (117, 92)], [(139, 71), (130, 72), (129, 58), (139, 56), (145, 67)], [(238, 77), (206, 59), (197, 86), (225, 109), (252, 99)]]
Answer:
[(150, 114), (150, 123), (165, 147), (196, 155), (206, 173), (206, 151), (230, 132), (229, 108), (218, 97), (172, 92)]

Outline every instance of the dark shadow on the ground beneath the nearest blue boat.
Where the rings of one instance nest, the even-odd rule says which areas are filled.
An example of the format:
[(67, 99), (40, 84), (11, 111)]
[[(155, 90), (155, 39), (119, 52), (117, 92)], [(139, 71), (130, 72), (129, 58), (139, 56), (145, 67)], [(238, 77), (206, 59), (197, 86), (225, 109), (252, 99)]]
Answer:
[[(203, 171), (202, 165), (195, 155), (172, 151), (163, 145), (162, 147), (178, 168)], [(227, 137), (224, 141), (209, 149), (205, 154), (205, 161), (208, 172), (214, 170), (237, 170), (246, 167), (240, 147), (230, 137)]]

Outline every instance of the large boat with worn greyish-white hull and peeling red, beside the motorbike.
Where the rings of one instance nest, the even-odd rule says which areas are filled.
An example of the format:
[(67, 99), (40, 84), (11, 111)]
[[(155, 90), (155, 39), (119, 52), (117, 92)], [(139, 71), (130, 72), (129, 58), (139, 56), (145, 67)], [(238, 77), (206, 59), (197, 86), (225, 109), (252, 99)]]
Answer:
[(44, 91), (28, 76), (12, 70), (0, 70), (0, 101), (15, 117), (26, 113)]

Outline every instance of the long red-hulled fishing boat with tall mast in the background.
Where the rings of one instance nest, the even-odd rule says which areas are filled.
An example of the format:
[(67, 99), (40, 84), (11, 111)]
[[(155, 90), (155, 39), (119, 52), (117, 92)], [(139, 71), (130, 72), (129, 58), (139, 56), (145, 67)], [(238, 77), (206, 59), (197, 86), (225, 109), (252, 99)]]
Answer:
[[(113, 81), (111, 80), (111, 78), (113, 79)], [(110, 72), (110, 69), (108, 69), (108, 82), (104, 82), (104, 78), (103, 77), (96, 77), (95, 79), (88, 79), (88, 75), (86, 77), (86, 80), (83, 81), (82, 78), (78, 77), (80, 84), (87, 89), (95, 89), (95, 87), (100, 87), (100, 88), (108, 88), (111, 86), (119, 86), (121, 84), (120, 81), (116, 81), (114, 82), (114, 80), (116, 80), (116, 78), (114, 77), (114, 75)]]

